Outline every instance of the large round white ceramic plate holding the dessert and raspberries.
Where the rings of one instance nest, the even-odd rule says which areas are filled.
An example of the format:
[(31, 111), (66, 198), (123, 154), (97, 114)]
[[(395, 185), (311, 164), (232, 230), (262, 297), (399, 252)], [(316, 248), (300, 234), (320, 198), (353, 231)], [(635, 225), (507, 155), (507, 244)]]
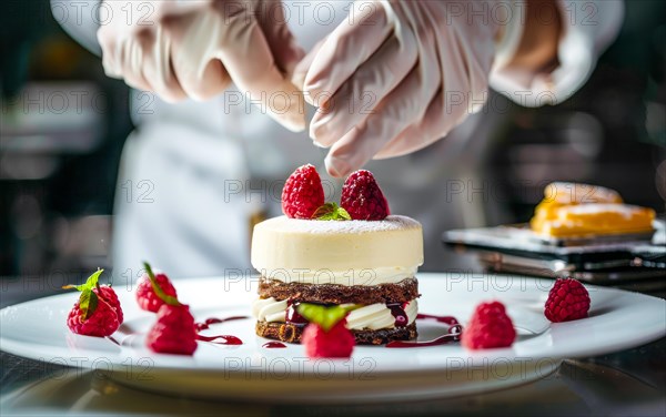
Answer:
[[(475, 305), (500, 299), (521, 336), (512, 348), (467, 352), (460, 344), (391, 349), (357, 346), (353, 357), (307, 359), (303, 347), (269, 349), (254, 321), (211, 326), (241, 346), (200, 343), (193, 357), (158, 355), (144, 347), (154, 315), (142, 312), (133, 288), (117, 288), (125, 322), (108, 338), (74, 335), (65, 317), (74, 293), (36, 299), (0, 312), (2, 350), (54, 364), (98, 369), (127, 385), (161, 393), (270, 401), (404, 400), (477, 393), (547, 377), (563, 358), (599, 355), (666, 335), (666, 302), (640, 294), (587, 286), (588, 318), (549, 324), (543, 304), (548, 279), (488, 274), (420, 274), (420, 311), (465, 323)], [(256, 279), (198, 278), (175, 283), (179, 298), (198, 321), (249, 315)], [(529, 329), (536, 334), (528, 334)], [(418, 321), (420, 339), (446, 326)]]

